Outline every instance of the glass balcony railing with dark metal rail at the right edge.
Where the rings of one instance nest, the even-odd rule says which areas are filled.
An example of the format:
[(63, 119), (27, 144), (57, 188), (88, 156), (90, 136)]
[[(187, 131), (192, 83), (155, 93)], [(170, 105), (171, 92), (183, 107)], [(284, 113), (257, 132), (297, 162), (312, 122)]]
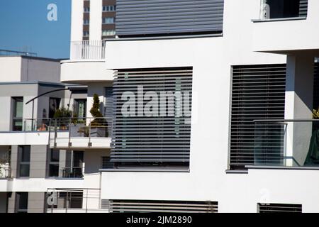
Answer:
[(255, 166), (319, 167), (319, 120), (254, 123)]

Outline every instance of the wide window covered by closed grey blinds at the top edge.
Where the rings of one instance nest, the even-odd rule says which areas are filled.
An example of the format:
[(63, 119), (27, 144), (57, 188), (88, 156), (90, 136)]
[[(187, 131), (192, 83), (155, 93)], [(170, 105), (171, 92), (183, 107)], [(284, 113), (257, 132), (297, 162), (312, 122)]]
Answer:
[(224, 0), (117, 0), (119, 37), (223, 32)]

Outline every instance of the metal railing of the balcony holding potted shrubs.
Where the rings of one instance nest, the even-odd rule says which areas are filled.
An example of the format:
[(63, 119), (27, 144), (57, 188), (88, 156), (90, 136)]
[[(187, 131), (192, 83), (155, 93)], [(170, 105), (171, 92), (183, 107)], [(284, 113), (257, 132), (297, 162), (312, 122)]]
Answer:
[[(59, 118), (50, 120), (50, 144), (57, 147), (57, 140), (72, 143), (84, 141), (91, 147), (91, 138), (111, 138), (111, 118)], [(67, 132), (67, 133), (63, 133)], [(81, 138), (82, 140), (78, 140)]]

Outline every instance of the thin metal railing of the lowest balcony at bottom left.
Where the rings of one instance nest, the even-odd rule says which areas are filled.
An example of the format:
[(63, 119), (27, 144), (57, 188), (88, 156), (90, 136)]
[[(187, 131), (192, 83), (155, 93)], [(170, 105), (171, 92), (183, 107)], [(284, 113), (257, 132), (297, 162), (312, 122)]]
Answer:
[(47, 213), (101, 213), (101, 189), (47, 189)]

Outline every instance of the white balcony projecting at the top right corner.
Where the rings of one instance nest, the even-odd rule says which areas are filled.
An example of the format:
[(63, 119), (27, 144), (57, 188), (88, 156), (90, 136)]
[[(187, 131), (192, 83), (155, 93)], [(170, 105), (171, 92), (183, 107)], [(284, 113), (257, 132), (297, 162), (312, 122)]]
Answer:
[(317, 9), (317, 0), (262, 0), (260, 17), (252, 18), (253, 50), (282, 54), (318, 51)]

